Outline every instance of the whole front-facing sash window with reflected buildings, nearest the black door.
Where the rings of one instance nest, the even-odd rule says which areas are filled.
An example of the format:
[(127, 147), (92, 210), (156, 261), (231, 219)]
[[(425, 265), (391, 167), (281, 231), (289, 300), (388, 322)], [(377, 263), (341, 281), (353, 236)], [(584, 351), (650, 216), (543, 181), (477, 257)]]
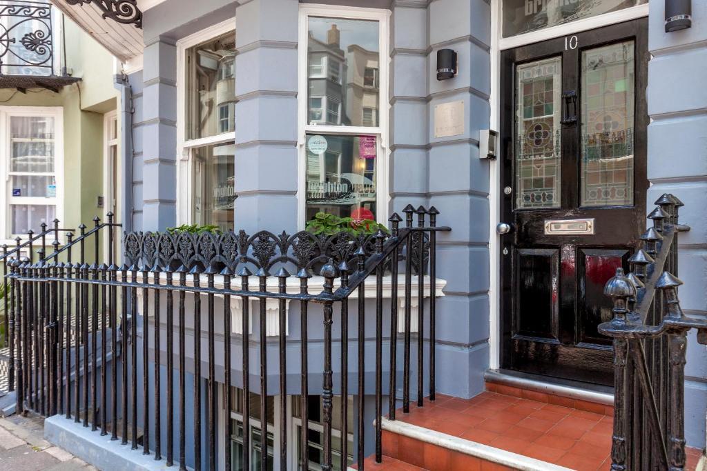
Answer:
[(300, 226), (387, 217), (388, 13), (300, 8)]

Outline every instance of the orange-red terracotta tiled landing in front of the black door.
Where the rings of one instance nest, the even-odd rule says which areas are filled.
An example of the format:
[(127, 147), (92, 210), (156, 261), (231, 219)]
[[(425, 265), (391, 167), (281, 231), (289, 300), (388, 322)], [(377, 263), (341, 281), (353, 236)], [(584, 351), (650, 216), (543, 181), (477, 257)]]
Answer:
[[(472, 399), (438, 395), (433, 403), (425, 399), (423, 407), (411, 403), (410, 413), (399, 410), (396, 418), (574, 470), (610, 469), (611, 415), (550, 404), (547, 395), (537, 399), (489, 391)], [(397, 458), (404, 453), (398, 450)], [(698, 460), (699, 451), (688, 449), (686, 469), (694, 470)]]

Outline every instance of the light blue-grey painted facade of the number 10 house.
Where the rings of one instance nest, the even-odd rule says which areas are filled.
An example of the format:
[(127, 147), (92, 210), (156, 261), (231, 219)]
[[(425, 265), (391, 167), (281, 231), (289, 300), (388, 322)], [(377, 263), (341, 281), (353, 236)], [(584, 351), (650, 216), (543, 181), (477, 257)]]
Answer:
[[(250, 233), (259, 229), (276, 232), (298, 229), (297, 48), (301, 3), (315, 2), (168, 0), (146, 11), (144, 70), (129, 77), (133, 93), (134, 153), (130, 193), (133, 208), (127, 217), (131, 218), (134, 230), (164, 229), (177, 222), (175, 203), (183, 189), (176, 187), (180, 117), (175, 106), (175, 44), (182, 37), (233, 16), (238, 49), (237, 229)], [(491, 5), (484, 0), (316, 3), (390, 9), (390, 210), (400, 211), (408, 203), (435, 205), (440, 210), (439, 224), (453, 228), (438, 239), (438, 276), (448, 280), (448, 285), (445, 297), (438, 301), (437, 386), (440, 393), (470, 398), (484, 390), (484, 371), (489, 367), (490, 295), (498, 296), (489, 293), (492, 263), (489, 193), (496, 191), (489, 171), (491, 165), (498, 163), (478, 159), (477, 141), (479, 130), (490, 126), (489, 100), (495, 86), (491, 83)], [(655, 1), (650, 6), (653, 59), (646, 98), (653, 121), (648, 129), (648, 178), (652, 183), (648, 201), (672, 192), (686, 204), (681, 222), (692, 230), (680, 239), (680, 274), (688, 281), (681, 288), (680, 297), (684, 309), (705, 316), (707, 4), (693, 3), (693, 28), (670, 34), (663, 32), (662, 2)], [(459, 54), (460, 74), (454, 80), (436, 80), (436, 52), (440, 47), (450, 47)], [(458, 100), (464, 102), (463, 135), (435, 138), (434, 107)], [(289, 323), (288, 361), (293, 366), (289, 383), (295, 388), (298, 385), (295, 368), (299, 364), (296, 309), (291, 309)], [(373, 322), (368, 324), (371, 326)], [(318, 338), (321, 326), (312, 326), (310, 335)], [(367, 333), (367, 338), (373, 342), (373, 332)], [(386, 336), (386, 342), (389, 338)], [(254, 339), (257, 339), (255, 330), (251, 342)], [(689, 345), (686, 433), (689, 445), (704, 446), (707, 353), (704, 346), (696, 343), (694, 335)], [(257, 343), (252, 348), (257, 348)], [(234, 348), (234, 353), (238, 350)], [(338, 352), (335, 346), (335, 358)], [(355, 352), (352, 347), (352, 359)], [(240, 352), (235, 354), (240, 357)], [(269, 371), (276, 375), (276, 345), (272, 346), (269, 358), (273, 360)], [(310, 358), (315, 362), (310, 365), (311, 371), (316, 371), (315, 365), (320, 364), (321, 358), (315, 350), (310, 352)], [(239, 364), (235, 357), (233, 364)], [(352, 374), (354, 368), (352, 364)], [(234, 371), (234, 378), (238, 376)], [(270, 381), (273, 386), (274, 378)], [(355, 377), (352, 379), (353, 390)], [(320, 375), (313, 373), (311, 387), (320, 388), (319, 380)], [(240, 382), (240, 378), (235, 381)], [(335, 377), (334, 384), (337, 383)]]

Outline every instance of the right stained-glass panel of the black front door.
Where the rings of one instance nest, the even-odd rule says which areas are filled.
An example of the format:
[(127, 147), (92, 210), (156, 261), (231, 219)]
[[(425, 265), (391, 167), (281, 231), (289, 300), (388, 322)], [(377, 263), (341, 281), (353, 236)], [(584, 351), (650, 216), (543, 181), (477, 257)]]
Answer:
[(633, 204), (633, 41), (582, 52), (582, 205)]

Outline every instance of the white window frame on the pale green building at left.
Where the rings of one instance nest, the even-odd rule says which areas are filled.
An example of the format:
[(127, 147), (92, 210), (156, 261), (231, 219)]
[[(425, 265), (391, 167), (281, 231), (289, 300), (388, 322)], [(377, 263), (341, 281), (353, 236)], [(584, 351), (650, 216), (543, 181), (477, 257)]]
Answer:
[[(26, 239), (27, 234), (10, 233), (10, 205), (13, 198), (10, 191), (10, 118), (11, 117), (52, 117), (54, 118), (54, 178), (57, 183), (57, 196), (54, 198), (23, 198), (18, 204), (54, 205), (54, 215), (58, 220), (64, 220), (64, 108), (63, 107), (11, 107), (0, 106), (0, 195), (3, 203), (0, 205), (0, 241), (8, 246), (16, 244), (14, 237)], [(7, 198), (7, 200), (5, 199)], [(51, 221), (47, 221), (51, 226)]]

